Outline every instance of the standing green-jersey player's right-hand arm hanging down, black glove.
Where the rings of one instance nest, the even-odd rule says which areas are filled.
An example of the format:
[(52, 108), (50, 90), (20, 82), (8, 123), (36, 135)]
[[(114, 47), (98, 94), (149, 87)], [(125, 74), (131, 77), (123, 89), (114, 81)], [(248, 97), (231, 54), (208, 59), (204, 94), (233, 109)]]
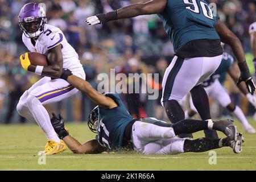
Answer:
[(216, 24), (216, 31), (220, 35), (221, 42), (228, 44), (237, 58), (238, 67), (240, 68), (241, 75), (238, 79), (237, 85), (240, 85), (242, 81), (245, 81), (247, 90), (253, 94), (255, 91), (255, 84), (253, 78), (250, 75), (249, 68), (245, 60), (245, 52), (243, 51), (242, 43), (237, 36), (229, 30), (228, 27), (220, 20)]

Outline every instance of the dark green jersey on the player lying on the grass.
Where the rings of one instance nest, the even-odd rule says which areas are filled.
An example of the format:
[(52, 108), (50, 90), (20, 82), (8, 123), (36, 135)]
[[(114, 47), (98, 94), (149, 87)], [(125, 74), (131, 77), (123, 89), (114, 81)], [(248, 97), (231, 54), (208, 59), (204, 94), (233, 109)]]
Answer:
[(111, 150), (120, 150), (125, 128), (134, 118), (126, 110), (118, 94), (106, 93), (105, 96), (112, 98), (118, 107), (113, 109), (99, 107), (100, 123), (97, 127), (98, 135), (96, 139), (102, 146)]

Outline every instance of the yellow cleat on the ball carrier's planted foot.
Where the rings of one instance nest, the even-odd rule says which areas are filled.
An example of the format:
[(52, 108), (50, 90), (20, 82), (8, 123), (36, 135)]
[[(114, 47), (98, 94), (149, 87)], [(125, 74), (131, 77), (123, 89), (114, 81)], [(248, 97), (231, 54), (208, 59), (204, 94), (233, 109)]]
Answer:
[(44, 153), (46, 155), (58, 154), (66, 150), (66, 148), (66, 144), (63, 142), (63, 140), (60, 140), (60, 143), (57, 143), (53, 140), (47, 140)]

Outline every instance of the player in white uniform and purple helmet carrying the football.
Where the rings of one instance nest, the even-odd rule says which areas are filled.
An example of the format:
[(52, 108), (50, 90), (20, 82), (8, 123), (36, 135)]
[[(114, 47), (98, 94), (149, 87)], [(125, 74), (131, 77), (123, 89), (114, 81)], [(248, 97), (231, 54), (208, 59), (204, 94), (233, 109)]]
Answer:
[(63, 152), (66, 146), (55, 133), (43, 105), (59, 102), (78, 92), (74, 86), (59, 78), (63, 68), (72, 70), (74, 75), (83, 80), (85, 72), (75, 49), (67, 42), (63, 32), (47, 24), (43, 4), (27, 3), (20, 10), (18, 18), (23, 31), (23, 43), (29, 51), (46, 55), (48, 66), (31, 65), (28, 53), (25, 53), (25, 57), (20, 56), (22, 67), (26, 71), (44, 77), (23, 93), (16, 109), (20, 115), (39, 125), (46, 133), (48, 140), (45, 153), (57, 154)]

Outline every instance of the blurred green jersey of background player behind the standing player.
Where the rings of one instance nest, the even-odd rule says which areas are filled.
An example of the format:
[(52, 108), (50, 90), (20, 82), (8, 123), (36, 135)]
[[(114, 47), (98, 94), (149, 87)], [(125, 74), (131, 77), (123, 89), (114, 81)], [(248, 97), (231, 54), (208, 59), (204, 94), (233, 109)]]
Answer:
[(210, 86), (213, 84), (214, 80), (218, 78), (218, 80), (222, 83), (226, 80), (226, 73), (228, 72), (229, 68), (234, 63), (234, 57), (229, 55), (228, 53), (224, 52), (221, 60), (221, 64), (218, 66), (216, 72), (213, 73), (207, 80), (205, 80), (202, 85), (204, 87)]

